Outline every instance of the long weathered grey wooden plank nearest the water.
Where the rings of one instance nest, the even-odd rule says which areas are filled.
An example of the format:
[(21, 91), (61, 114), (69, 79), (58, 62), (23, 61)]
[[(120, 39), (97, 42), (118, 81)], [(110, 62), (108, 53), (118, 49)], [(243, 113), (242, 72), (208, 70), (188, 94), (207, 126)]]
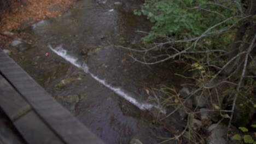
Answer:
[(63, 141), (78, 144), (103, 143), (1, 50), (0, 71)]

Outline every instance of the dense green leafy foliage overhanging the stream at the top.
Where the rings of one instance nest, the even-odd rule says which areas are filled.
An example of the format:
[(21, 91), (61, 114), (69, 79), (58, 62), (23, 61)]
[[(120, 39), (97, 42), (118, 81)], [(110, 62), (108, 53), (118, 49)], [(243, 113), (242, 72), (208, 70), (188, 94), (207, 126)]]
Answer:
[[(222, 3), (229, 9), (210, 3), (207, 0), (146, 0), (143, 8), (135, 10), (134, 13), (136, 15), (146, 15), (151, 22), (155, 23), (152, 27), (152, 32), (144, 38), (146, 42), (152, 42), (157, 38), (164, 37), (188, 39), (199, 37), (208, 28), (233, 17), (237, 12), (235, 5), (232, 3), (224, 3), (224, 1), (217, 1), (217, 3)], [(216, 31), (220, 27), (233, 25), (236, 20), (237, 18), (233, 17), (211, 30)], [(201, 47), (213, 48), (218, 46), (224, 49), (233, 38), (233, 34), (226, 33), (218, 35), (218, 37), (206, 37), (200, 44)]]

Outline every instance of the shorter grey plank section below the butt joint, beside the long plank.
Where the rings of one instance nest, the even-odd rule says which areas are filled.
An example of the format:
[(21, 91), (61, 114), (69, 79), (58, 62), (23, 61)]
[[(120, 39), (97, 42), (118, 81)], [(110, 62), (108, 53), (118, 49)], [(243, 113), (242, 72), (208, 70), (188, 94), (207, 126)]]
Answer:
[(63, 144), (61, 139), (33, 111), (14, 122), (27, 143)]

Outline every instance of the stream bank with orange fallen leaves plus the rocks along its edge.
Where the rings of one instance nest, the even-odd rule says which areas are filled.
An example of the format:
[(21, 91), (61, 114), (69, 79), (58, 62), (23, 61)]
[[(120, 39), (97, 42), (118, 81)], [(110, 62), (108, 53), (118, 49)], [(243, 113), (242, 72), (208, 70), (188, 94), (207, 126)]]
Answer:
[(10, 0), (10, 8), (1, 12), (0, 49), (16, 53), (16, 49), (10, 45), (15, 39), (22, 39), (25, 43), (33, 44), (33, 38), (30, 34), (22, 32), (22, 29), (45, 19), (60, 17), (73, 7), (75, 1)]

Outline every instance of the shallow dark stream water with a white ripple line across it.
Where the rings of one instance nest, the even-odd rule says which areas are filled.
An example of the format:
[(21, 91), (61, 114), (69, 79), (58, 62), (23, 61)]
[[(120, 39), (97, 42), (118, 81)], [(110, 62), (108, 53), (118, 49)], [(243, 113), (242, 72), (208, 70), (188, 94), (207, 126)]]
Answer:
[[(13, 58), (104, 142), (129, 143), (136, 138), (158, 143), (162, 141), (158, 137), (173, 133), (154, 123), (149, 111), (161, 106), (148, 103), (145, 89), (179, 88), (182, 79), (174, 74), (184, 73), (184, 65), (168, 62), (149, 67), (113, 46), (139, 46), (144, 35), (136, 31), (149, 31), (152, 26), (146, 17), (133, 15), (143, 1), (115, 2), (79, 0), (62, 17), (28, 27), (36, 44)], [(56, 88), (65, 79), (67, 85)], [(179, 117), (174, 119), (178, 127)]]

